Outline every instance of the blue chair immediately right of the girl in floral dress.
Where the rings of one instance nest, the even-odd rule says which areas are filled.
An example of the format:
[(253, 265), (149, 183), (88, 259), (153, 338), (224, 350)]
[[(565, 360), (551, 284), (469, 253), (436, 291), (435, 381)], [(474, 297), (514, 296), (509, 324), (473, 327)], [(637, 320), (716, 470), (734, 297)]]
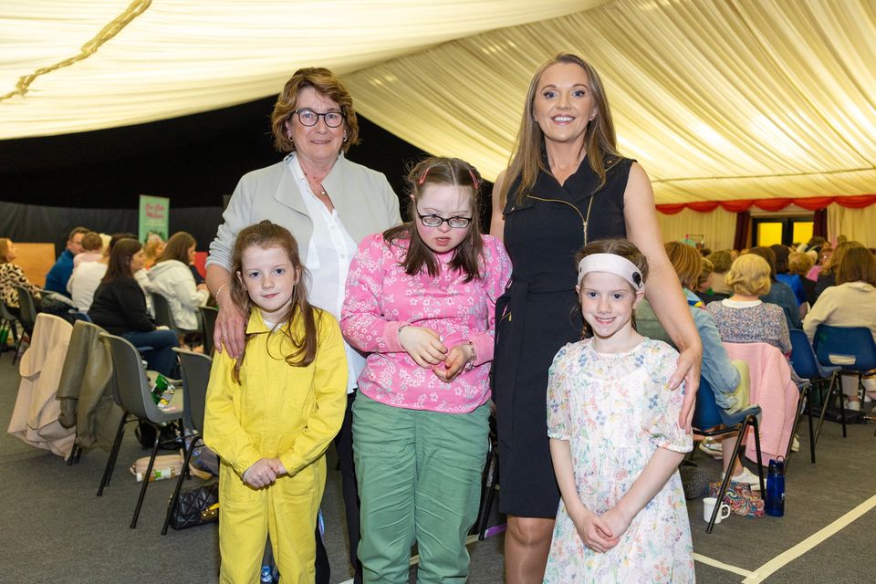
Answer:
[[(760, 492), (766, 494), (767, 487), (764, 485), (764, 465), (760, 456), (760, 435), (757, 432), (757, 416), (760, 414), (760, 406), (752, 405), (745, 410), (735, 413), (727, 413), (724, 408), (718, 407), (714, 401), (714, 391), (705, 378), (700, 378), (700, 389), (696, 392), (696, 406), (694, 407), (694, 433), (704, 436), (723, 436), (724, 434), (738, 432), (736, 441), (733, 446), (733, 459), (730, 461), (730, 468), (724, 474), (724, 480), (721, 482), (721, 488), (718, 490), (717, 500), (720, 504), (724, 501), (724, 495), (727, 493), (727, 488), (730, 486), (731, 474), (736, 460), (740, 457), (739, 445), (742, 443), (743, 437), (746, 435), (748, 427), (754, 429), (755, 434), (755, 449), (757, 452), (757, 474), (760, 478)], [(723, 424), (725, 428), (717, 428)], [(714, 520), (721, 510), (720, 505), (714, 506), (712, 517), (709, 519), (709, 526), (705, 528), (706, 533), (712, 533)]]

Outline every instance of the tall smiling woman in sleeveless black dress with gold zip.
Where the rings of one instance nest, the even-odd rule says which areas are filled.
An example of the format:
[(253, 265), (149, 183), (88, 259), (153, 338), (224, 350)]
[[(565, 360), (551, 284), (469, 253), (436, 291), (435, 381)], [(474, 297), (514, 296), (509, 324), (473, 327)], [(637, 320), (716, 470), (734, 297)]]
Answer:
[(615, 143), (596, 71), (560, 54), (532, 78), (511, 164), (495, 182), (490, 234), (504, 239), (514, 265), (496, 305), (494, 361), (509, 583), (544, 577), (559, 502), (547, 370), (558, 349), (580, 338), (573, 257), (585, 243), (628, 237), (648, 256), (646, 294), (681, 351), (672, 383), (686, 381), (679, 424), (690, 425), (702, 345), (663, 249), (648, 176)]

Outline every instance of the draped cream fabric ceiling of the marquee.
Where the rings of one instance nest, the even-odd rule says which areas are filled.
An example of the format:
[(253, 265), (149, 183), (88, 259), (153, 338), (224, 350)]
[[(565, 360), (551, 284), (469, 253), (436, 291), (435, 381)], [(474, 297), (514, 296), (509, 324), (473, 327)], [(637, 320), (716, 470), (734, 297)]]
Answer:
[(874, 39), (873, 0), (0, 0), (0, 140), (235, 105), (320, 65), (494, 178), (529, 77), (568, 50), (658, 203), (876, 193)]

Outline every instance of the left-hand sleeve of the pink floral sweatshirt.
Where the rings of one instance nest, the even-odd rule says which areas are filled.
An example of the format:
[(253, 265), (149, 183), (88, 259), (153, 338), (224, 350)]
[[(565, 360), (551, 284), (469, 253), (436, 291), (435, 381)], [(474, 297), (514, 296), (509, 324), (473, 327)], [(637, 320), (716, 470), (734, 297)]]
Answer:
[(381, 310), (385, 280), (384, 265), (393, 261), (381, 234), (362, 240), (349, 265), (346, 297), (340, 312), (340, 329), (350, 345), (370, 353), (400, 352), (399, 327)]

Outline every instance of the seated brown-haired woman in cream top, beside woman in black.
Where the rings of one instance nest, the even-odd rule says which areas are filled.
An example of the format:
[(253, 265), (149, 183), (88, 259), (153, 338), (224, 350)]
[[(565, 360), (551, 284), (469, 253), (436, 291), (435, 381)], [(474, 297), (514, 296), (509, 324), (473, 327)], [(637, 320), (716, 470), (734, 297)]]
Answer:
[(189, 268), (195, 246), (192, 235), (184, 231), (173, 234), (149, 270), (150, 291), (167, 298), (176, 325), (186, 330), (198, 329), (198, 307), (204, 306), (210, 297), (206, 285), (194, 283)]

